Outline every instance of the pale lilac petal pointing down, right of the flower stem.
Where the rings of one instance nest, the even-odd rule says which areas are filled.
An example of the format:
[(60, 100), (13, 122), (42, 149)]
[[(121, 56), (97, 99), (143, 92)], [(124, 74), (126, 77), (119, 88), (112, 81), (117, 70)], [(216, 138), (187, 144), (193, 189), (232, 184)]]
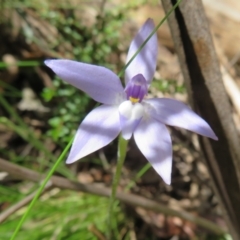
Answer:
[(142, 119), (134, 132), (135, 142), (166, 184), (171, 183), (172, 141), (164, 124)]

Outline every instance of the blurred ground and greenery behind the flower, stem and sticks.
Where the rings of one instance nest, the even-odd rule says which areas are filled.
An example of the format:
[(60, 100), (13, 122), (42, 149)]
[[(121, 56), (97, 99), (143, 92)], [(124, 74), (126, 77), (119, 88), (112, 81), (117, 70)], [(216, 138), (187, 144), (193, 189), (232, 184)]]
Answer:
[[(240, 102), (236, 101), (240, 96), (240, 2), (203, 3), (219, 62), (225, 67), (224, 84), (240, 132)], [(157, 0), (1, 0), (0, 9), (0, 160), (31, 169), (39, 179), (36, 174), (48, 172), (79, 123), (96, 106), (87, 95), (57, 78), (43, 61), (75, 59), (118, 73), (136, 31), (149, 17), (158, 23), (164, 11)], [(157, 71), (149, 96), (188, 104), (167, 23), (158, 30), (158, 39)], [(177, 128), (169, 131), (173, 140), (172, 185), (163, 183), (131, 140), (119, 190), (227, 229), (196, 135)], [(66, 166), (63, 161), (55, 175), (110, 188), (116, 158), (117, 140), (73, 165)], [(19, 171), (16, 165), (0, 163), (1, 240), (10, 239), (40, 184), (29, 172), (19, 177)], [(91, 191), (46, 189), (16, 239), (104, 240), (108, 202)], [(194, 221), (122, 201), (116, 202), (114, 216), (113, 239), (231, 239)]]

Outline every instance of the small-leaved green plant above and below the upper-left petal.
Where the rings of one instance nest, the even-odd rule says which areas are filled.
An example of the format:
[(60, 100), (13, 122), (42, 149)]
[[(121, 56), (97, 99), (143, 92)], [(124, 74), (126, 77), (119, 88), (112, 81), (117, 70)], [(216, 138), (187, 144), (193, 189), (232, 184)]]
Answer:
[[(69, 54), (74, 59), (111, 67), (107, 64), (108, 58), (112, 52), (119, 51), (119, 31), (116, 29), (120, 29), (124, 21), (121, 9), (103, 10), (97, 15), (95, 23), (88, 27), (73, 12), (66, 17), (57, 10), (51, 10), (43, 13), (43, 18), (59, 31), (58, 39), (51, 46), (53, 50), (67, 43), (71, 49)], [(54, 90), (45, 88), (42, 92), (46, 102), (55, 103), (47, 135), (64, 146), (86, 115), (87, 106), (94, 105), (81, 91), (62, 80), (55, 79), (53, 83)]]

